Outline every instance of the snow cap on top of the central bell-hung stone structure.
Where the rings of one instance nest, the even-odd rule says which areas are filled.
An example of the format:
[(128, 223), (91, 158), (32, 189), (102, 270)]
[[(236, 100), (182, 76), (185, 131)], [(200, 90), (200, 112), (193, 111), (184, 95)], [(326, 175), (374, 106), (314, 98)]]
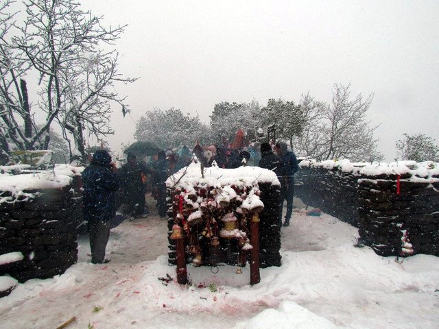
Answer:
[(201, 174), (200, 162), (191, 162), (188, 167), (180, 169), (171, 175), (166, 186), (189, 188), (190, 186), (252, 186), (253, 184), (268, 183), (280, 185), (276, 174), (268, 169), (259, 167), (239, 167), (235, 169), (222, 169), (216, 166), (204, 168), (204, 178)]

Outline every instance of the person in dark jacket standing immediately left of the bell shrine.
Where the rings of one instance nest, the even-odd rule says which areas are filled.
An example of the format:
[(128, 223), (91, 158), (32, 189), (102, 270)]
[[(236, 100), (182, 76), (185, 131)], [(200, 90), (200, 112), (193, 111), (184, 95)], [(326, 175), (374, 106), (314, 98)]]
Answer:
[(152, 165), (154, 195), (157, 200), (158, 215), (162, 218), (166, 217), (167, 201), (166, 201), (166, 180), (168, 178), (169, 165), (166, 160), (165, 151), (158, 151), (158, 159)]

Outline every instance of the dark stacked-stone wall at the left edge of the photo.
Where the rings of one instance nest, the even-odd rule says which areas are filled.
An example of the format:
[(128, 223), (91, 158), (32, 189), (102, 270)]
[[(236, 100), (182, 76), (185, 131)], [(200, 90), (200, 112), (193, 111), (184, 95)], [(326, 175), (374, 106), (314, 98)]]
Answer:
[(25, 192), (35, 197), (0, 203), (0, 254), (24, 256), (2, 265), (0, 276), (8, 274), (19, 282), (51, 278), (73, 265), (78, 260), (76, 227), (82, 222), (82, 199), (72, 186)]

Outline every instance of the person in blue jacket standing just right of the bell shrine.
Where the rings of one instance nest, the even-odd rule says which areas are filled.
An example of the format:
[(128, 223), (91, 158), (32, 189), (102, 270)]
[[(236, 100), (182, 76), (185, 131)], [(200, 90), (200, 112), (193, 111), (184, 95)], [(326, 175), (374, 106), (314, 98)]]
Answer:
[(287, 200), (287, 213), (285, 214), (285, 221), (283, 226), (289, 226), (289, 220), (293, 212), (294, 199), (294, 173), (298, 171), (299, 166), (296, 154), (288, 151), (287, 144), (276, 143), (274, 147), (278, 156), (281, 157), (283, 163), (283, 177), (281, 178), (281, 192), (283, 200)]

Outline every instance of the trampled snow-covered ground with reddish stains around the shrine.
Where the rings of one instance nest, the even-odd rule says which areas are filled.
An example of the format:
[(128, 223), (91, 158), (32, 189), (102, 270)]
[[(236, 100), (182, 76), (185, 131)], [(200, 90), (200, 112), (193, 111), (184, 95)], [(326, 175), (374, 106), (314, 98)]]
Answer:
[[(151, 203), (151, 200), (148, 200)], [(399, 262), (355, 247), (357, 229), (327, 214), (294, 212), (282, 230), (282, 267), (189, 265), (180, 286), (167, 265), (167, 228), (154, 206), (146, 219), (112, 230), (106, 265), (78, 263), (62, 276), (29, 280), (0, 299), (0, 328), (439, 328), (439, 258)]]

